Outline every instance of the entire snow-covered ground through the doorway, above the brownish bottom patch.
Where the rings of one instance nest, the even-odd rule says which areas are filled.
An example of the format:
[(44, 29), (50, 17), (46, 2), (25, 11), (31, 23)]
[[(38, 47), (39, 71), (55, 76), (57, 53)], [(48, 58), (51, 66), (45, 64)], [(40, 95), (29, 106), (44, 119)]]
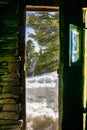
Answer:
[[(57, 72), (26, 78), (26, 117), (38, 116), (58, 118)], [(30, 127), (29, 124), (27, 122), (27, 127)]]

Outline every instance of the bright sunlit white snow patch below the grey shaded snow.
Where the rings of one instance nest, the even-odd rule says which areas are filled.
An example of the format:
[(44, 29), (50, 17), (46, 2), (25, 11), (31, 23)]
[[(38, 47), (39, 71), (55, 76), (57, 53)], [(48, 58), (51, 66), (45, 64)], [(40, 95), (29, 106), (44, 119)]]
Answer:
[(46, 107), (47, 103), (27, 103), (27, 117), (47, 116), (53, 119), (58, 118), (58, 112)]

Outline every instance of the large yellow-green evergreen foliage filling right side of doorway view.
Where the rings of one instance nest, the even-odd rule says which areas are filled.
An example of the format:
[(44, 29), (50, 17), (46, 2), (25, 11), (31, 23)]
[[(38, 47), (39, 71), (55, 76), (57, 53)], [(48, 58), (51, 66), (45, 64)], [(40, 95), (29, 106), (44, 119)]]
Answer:
[(29, 37), (40, 47), (35, 75), (56, 71), (59, 66), (59, 13), (27, 12), (26, 25), (34, 30)]

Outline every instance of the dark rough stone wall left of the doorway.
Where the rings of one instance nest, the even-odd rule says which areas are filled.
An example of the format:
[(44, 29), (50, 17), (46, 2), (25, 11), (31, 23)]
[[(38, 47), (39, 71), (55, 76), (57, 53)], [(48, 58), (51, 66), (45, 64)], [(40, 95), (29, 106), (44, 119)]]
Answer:
[(19, 1), (0, 0), (0, 130), (22, 130)]

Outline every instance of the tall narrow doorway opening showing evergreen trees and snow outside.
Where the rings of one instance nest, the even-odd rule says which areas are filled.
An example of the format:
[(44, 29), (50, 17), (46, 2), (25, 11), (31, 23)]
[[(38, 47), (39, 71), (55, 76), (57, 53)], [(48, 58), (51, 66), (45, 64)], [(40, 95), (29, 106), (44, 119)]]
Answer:
[(58, 130), (58, 7), (26, 6), (26, 130)]

